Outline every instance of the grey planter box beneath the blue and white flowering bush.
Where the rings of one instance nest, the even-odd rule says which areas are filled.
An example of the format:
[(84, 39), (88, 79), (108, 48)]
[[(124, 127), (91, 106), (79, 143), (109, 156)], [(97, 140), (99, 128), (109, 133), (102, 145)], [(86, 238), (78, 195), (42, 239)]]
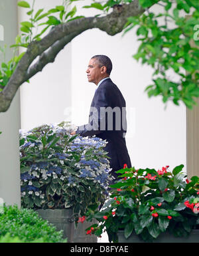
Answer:
[(37, 209), (38, 215), (56, 226), (58, 231), (64, 231), (64, 238), (68, 243), (97, 243), (98, 238), (94, 235), (86, 235), (85, 229), (96, 222), (78, 223), (75, 228), (72, 209)]

